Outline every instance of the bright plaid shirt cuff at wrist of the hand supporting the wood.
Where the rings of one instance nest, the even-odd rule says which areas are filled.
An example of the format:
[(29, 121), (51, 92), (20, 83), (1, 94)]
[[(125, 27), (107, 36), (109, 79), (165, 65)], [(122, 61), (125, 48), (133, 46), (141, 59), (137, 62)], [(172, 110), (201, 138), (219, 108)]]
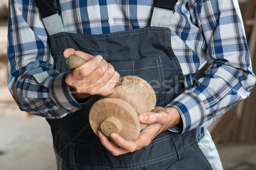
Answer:
[(179, 111), (183, 127), (172, 127), (172, 132), (186, 133), (202, 124), (205, 119), (205, 107), (202, 100), (192, 91), (184, 91), (177, 96), (167, 107)]

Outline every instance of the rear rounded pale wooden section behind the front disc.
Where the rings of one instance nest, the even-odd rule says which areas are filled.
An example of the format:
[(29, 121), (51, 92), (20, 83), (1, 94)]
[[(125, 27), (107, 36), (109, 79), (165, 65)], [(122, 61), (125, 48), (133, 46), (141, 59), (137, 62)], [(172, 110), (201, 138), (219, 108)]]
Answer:
[[(102, 98), (122, 99), (128, 102), (137, 114), (152, 111), (155, 108), (157, 98), (154, 89), (148, 82), (137, 76), (125, 76), (119, 79), (122, 85), (117, 85), (112, 94)], [(141, 123), (141, 130), (147, 124)]]

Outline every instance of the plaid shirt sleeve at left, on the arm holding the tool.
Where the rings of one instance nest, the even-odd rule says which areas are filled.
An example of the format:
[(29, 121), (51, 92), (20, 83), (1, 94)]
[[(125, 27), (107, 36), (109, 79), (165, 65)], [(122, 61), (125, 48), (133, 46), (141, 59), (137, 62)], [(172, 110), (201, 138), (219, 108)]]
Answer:
[(8, 86), (20, 110), (58, 119), (81, 108), (53, 69), (47, 33), (35, 1), (9, 1)]

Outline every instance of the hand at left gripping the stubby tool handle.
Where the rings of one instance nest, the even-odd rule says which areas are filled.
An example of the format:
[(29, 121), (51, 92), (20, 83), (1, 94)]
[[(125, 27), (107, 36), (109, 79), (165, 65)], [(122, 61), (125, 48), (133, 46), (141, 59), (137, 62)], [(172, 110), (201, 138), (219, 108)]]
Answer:
[(93, 57), (82, 51), (75, 51), (73, 48), (67, 48), (63, 53), (66, 59), (72, 54), (87, 60), (78, 68), (70, 70), (65, 79), (76, 100), (95, 94), (107, 96), (113, 92), (119, 81), (119, 74), (110, 63), (102, 59), (102, 56)]

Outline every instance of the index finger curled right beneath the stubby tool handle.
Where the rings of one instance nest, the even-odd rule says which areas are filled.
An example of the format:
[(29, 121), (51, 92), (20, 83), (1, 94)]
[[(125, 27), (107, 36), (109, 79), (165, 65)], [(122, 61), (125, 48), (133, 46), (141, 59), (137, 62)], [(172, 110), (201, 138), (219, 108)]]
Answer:
[(77, 79), (84, 79), (88, 77), (102, 62), (102, 56), (96, 56), (85, 62), (83, 65), (75, 68), (73, 71), (74, 76)]

